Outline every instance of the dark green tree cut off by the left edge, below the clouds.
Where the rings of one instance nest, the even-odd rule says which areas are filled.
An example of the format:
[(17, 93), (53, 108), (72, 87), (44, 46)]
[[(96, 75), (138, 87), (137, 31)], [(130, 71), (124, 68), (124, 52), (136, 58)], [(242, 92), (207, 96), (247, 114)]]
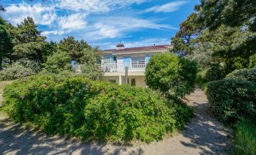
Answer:
[(13, 42), (10, 34), (5, 29), (5, 21), (0, 17), (0, 70), (2, 70), (2, 60), (10, 57), (12, 53)]

